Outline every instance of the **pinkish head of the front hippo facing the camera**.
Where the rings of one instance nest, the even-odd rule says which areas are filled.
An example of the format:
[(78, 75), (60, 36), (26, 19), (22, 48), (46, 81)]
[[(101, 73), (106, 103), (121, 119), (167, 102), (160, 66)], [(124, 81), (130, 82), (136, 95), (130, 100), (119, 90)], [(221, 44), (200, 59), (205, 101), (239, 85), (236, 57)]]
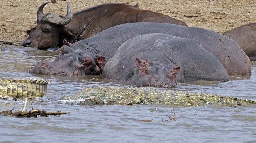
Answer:
[(133, 74), (129, 75), (129, 82), (136, 83), (137, 87), (152, 86), (174, 88), (177, 85), (175, 75), (180, 67), (164, 66), (159, 61), (140, 60), (136, 58)]

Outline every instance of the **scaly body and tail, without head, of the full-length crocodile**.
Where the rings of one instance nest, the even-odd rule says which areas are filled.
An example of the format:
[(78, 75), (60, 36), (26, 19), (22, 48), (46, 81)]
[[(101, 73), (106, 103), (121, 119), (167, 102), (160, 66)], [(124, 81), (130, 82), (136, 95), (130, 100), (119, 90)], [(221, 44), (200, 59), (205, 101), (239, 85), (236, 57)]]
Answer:
[[(256, 100), (238, 99), (228, 96), (193, 93), (177, 90), (161, 90), (155, 88), (123, 88), (105, 87), (102, 88), (105, 96), (102, 99), (107, 103), (134, 104), (134, 103), (156, 103), (175, 106), (203, 106), (217, 104), (220, 106), (239, 106), (256, 104)], [(110, 101), (110, 102), (109, 102)]]

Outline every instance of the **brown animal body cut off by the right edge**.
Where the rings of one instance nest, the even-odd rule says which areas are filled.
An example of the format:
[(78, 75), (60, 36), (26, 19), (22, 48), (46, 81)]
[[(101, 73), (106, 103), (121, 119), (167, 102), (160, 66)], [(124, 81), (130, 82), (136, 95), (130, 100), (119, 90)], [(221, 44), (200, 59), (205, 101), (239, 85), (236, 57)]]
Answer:
[(224, 32), (244, 50), (251, 61), (256, 61), (256, 23), (250, 23)]

